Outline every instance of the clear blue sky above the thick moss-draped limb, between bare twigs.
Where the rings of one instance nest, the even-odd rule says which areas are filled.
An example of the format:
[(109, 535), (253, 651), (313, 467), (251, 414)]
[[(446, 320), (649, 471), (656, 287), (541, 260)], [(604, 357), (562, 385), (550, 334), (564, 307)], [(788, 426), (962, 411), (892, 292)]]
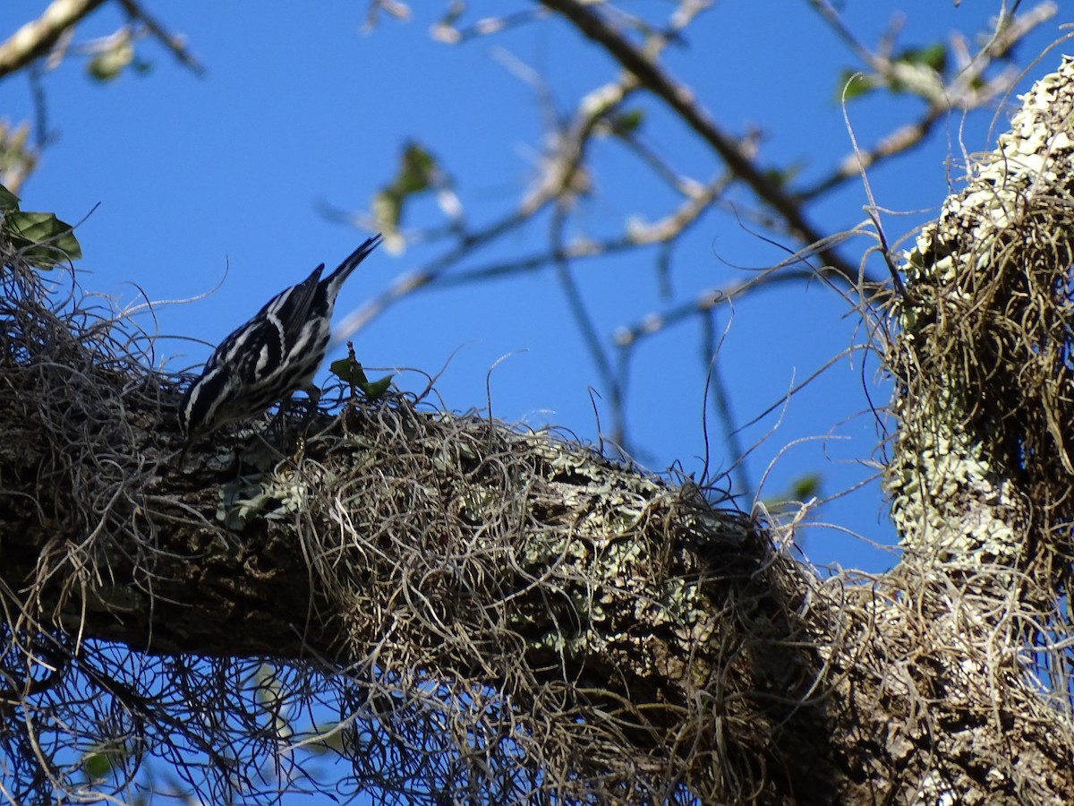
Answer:
[[(877, 12), (874, 3), (845, 5), (850, 26), (866, 42), (875, 41), (891, 20), (891, 13)], [(491, 2), (470, 8), (469, 19), (506, 9)], [(653, 17), (669, 5), (624, 8)], [(670, 48), (665, 62), (726, 130), (760, 127), (766, 161), (800, 161), (804, 179), (822, 176), (850, 148), (836, 101), (837, 76), (857, 64), (806, 3), (773, 3), (765, 13), (757, 8), (744, 0), (717, 3), (688, 31), (688, 46)], [(956, 9), (919, 1), (900, 8), (906, 17), (900, 44), (918, 45), (955, 29), (975, 32), (998, 3)], [(81, 219), (96, 206), (77, 232), (86, 289), (125, 302), (144, 292), (159, 302), (202, 294), (220, 284), (190, 304), (158, 304), (156, 326), (146, 321), (161, 336), (183, 337), (158, 345), (158, 356), (171, 357), (168, 366), (174, 370), (199, 364), (209, 350), (184, 339), (215, 344), (268, 297), (321, 261), (334, 264), (365, 236), (328, 220), (320, 205), (368, 208), (373, 193), (394, 175), (404, 139), (418, 140), (438, 157), (473, 224), (510, 208), (536, 176), (543, 124), (533, 87), (505, 67), (508, 61), (540, 73), (561, 112), (615, 74), (597, 48), (558, 21), (456, 46), (434, 42), (429, 28), (440, 3), (416, 4), (406, 24), (382, 17), (367, 35), (362, 32), (364, 3), (263, 3), (251, 14), (243, 4), (187, 2), (156, 11), (170, 29), (186, 34), (205, 75), (184, 70), (153, 41), (139, 46), (140, 58), (153, 64), (145, 76), (127, 73), (102, 85), (85, 76), (79, 60), (69, 59), (44, 76), (48, 127), (58, 139), (23, 197), (24, 208), (55, 211), (67, 220)], [(29, 4), (5, 4), (0, 30), (13, 30), (31, 14)], [(79, 28), (78, 41), (111, 33), (119, 21), (106, 5)], [(1021, 53), (1040, 49), (1057, 25), (1044, 26)], [(1022, 88), (1057, 60), (1058, 55), (1045, 57)], [(715, 163), (706, 148), (671, 123), (659, 103), (639, 97), (632, 105), (645, 113), (642, 133), (652, 147), (683, 172), (700, 178), (711, 174)], [(856, 135), (868, 145), (919, 107), (877, 95), (852, 104), (848, 113)], [(24, 77), (0, 85), (2, 114), (19, 120), (30, 109)], [(989, 145), (990, 123), (988, 114), (963, 120), (953, 113), (930, 143), (872, 172), (880, 204), (911, 212), (887, 217), (892, 239), (942, 201), (945, 161), (959, 136), (968, 150), (983, 149)], [(624, 149), (607, 144), (594, 164), (596, 192), (580, 204), (574, 234), (618, 232), (628, 216), (652, 219), (667, 211), (666, 192)], [(742, 192), (731, 198), (750, 201)], [(813, 206), (810, 216), (823, 231), (836, 232), (858, 224), (863, 204), (860, 184), (851, 182)], [(424, 201), (408, 211), (405, 225), (441, 222), (435, 204)], [(784, 257), (752, 229), (727, 214), (702, 219), (676, 251), (668, 278), (671, 299), (659, 296), (652, 250), (579, 263), (575, 275), (598, 332), (610, 339), (616, 327), (749, 276), (735, 267), (763, 268)], [(485, 247), (466, 265), (539, 250), (546, 233), (547, 218)], [(869, 245), (858, 240), (843, 255), (857, 261)], [(418, 245), (402, 255), (381, 249), (344, 289), (337, 320), (447, 248), (447, 243)], [(723, 311), (717, 327), (729, 316)], [(737, 420), (753, 419), (862, 339), (858, 317), (821, 283), (740, 300), (717, 359)], [(485, 406), (488, 380), (497, 416), (596, 438), (589, 387), (600, 391), (597, 373), (552, 268), (419, 293), (373, 320), (355, 343), (369, 366), (435, 373), (447, 364), (437, 388), (451, 409)], [(653, 470), (674, 462), (687, 472), (701, 467), (705, 360), (699, 350), (698, 325), (687, 321), (637, 351), (627, 414), (635, 452)], [(497, 364), (504, 356), (509, 358)], [(779, 494), (789, 479), (811, 471), (823, 474), (824, 492), (830, 494), (872, 472), (858, 460), (872, 458), (877, 441), (862, 379), (876, 403), (887, 398), (875, 370), (874, 360), (862, 370), (860, 358), (844, 358), (796, 395), (782, 416), (743, 431), (741, 438), (750, 445), (779, 423), (749, 462), (756, 484), (779, 457), (763, 494)], [(411, 389), (423, 385), (407, 373), (398, 383)], [(734, 457), (711, 417), (709, 433), (713, 466), (727, 466)], [(819, 438), (829, 433), (840, 438)], [(888, 543), (892, 533), (884, 510), (872, 485), (826, 505), (816, 518)], [(890, 562), (838, 530), (804, 534), (808, 553), (819, 562), (873, 570)]]

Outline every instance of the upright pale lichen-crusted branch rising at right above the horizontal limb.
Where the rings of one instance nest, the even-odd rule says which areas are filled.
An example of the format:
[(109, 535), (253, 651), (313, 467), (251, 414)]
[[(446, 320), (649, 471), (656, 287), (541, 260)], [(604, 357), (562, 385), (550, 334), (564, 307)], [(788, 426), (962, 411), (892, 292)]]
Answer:
[(887, 484), (915, 557), (1036, 568), (1030, 543), (1070, 514), (1072, 127), (1065, 59), (906, 255)]

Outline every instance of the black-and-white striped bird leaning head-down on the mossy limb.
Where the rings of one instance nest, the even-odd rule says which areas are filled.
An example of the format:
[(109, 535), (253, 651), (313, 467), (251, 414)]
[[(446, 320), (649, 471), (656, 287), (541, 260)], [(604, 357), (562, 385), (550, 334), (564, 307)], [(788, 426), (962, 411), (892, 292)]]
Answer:
[(259, 415), (296, 389), (316, 400), (314, 373), (329, 346), (336, 296), (380, 240), (368, 239), (324, 279), (321, 263), (220, 343), (183, 398), (179, 423), (188, 442)]

